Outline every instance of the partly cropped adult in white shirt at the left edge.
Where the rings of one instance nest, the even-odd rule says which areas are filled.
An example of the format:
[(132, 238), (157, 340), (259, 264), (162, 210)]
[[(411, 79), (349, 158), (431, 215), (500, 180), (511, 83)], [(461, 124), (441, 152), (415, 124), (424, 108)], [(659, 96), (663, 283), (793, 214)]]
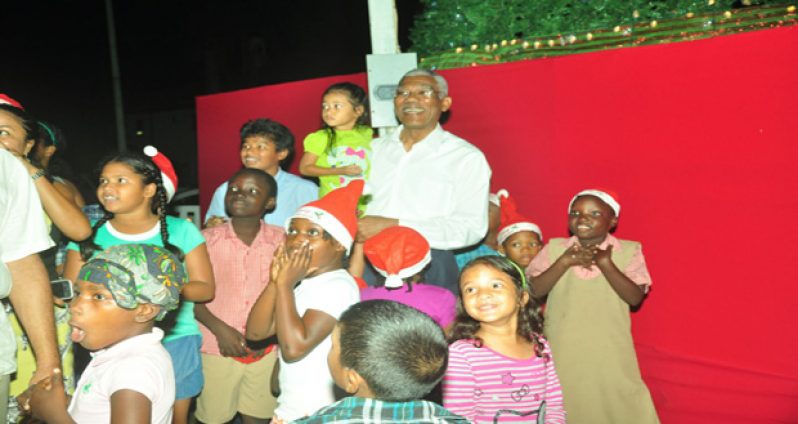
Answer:
[[(53, 246), (41, 201), (28, 172), (0, 148), (0, 298), (14, 306), (36, 354), (33, 380), (60, 368), (53, 295), (38, 252)], [(16, 339), (0, 306), (0, 419), (8, 406), (9, 376), (16, 370)]]

